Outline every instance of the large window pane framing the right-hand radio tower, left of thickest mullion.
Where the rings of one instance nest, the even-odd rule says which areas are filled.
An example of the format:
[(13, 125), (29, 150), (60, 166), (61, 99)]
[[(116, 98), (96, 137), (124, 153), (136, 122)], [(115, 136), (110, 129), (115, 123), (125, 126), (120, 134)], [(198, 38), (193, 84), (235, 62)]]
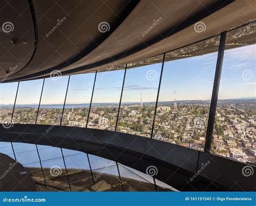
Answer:
[(219, 36), (166, 53), (154, 139), (203, 150), (218, 44)]

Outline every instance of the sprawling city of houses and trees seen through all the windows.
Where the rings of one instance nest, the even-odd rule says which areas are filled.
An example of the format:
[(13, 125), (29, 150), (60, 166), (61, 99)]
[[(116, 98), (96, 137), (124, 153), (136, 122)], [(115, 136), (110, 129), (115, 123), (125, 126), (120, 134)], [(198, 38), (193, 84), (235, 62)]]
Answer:
[[(35, 124), (38, 106), (15, 108), (14, 123)], [(154, 102), (123, 103), (116, 131), (151, 137)], [(153, 138), (176, 145), (204, 150), (210, 100), (158, 102)], [(256, 100), (219, 100), (215, 115), (211, 151), (234, 160), (256, 164)], [(89, 104), (41, 105), (37, 124), (86, 127)], [(2, 119), (10, 122), (12, 108), (1, 108)], [(88, 128), (114, 131), (118, 104), (91, 106)]]

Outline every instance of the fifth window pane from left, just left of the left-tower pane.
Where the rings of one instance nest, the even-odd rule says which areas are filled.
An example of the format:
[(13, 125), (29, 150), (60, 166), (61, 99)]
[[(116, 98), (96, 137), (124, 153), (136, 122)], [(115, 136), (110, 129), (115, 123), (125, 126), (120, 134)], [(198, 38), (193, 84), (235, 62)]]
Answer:
[(89, 116), (89, 128), (114, 131), (124, 70), (98, 72)]

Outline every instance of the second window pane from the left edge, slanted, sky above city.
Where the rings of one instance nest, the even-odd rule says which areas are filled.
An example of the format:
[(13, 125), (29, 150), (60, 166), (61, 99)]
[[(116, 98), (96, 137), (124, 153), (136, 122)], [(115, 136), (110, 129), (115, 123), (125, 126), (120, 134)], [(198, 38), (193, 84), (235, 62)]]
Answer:
[(43, 79), (21, 81), (12, 121), (15, 123), (36, 123), (36, 115), (42, 92)]

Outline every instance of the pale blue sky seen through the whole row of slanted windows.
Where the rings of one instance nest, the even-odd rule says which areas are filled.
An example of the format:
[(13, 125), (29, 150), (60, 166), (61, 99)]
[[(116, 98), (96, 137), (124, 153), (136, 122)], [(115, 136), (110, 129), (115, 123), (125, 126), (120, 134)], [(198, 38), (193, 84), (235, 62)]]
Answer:
[[(256, 46), (226, 50), (219, 99), (256, 96)], [(159, 101), (211, 99), (217, 53), (165, 62)], [(123, 102), (155, 101), (161, 63), (131, 68), (126, 72)], [(119, 102), (124, 70), (97, 74), (93, 103)], [(94, 73), (72, 75), (67, 104), (89, 103)], [(21, 82), (17, 104), (38, 104), (43, 80)], [(45, 79), (41, 104), (63, 104), (68, 77)], [(17, 83), (0, 84), (0, 104), (14, 104)]]

